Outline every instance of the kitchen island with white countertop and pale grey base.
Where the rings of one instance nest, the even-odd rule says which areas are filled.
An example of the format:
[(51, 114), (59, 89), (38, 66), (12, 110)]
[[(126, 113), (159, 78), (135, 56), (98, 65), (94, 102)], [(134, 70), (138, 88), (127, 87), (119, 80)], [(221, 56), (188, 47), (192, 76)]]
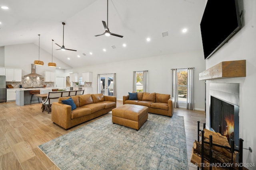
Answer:
[[(30, 90), (52, 91), (52, 89), (56, 89), (56, 88), (55, 87), (47, 87), (47, 88), (19, 88), (19, 89), (16, 89), (16, 105), (24, 106), (24, 104), (30, 104), (30, 98), (31, 98), (31, 94), (29, 94)], [(66, 88), (58, 88), (58, 89), (66, 90)], [(33, 98), (36, 99), (36, 96), (34, 96)], [(32, 101), (32, 103), (37, 103), (37, 102), (38, 101)]]

